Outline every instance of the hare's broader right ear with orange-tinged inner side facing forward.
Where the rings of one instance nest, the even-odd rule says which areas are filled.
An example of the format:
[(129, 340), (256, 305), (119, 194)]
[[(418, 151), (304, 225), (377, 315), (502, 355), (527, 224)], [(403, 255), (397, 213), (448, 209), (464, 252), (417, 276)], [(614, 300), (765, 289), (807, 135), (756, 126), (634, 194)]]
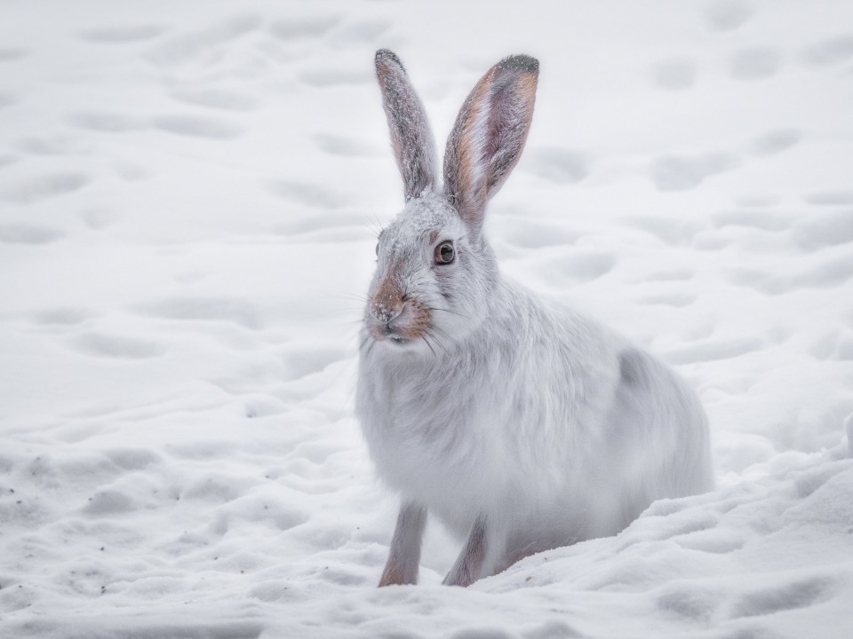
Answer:
[(471, 91), (447, 140), (444, 192), (474, 234), (482, 229), (486, 202), (521, 157), (538, 75), (538, 59), (502, 59)]

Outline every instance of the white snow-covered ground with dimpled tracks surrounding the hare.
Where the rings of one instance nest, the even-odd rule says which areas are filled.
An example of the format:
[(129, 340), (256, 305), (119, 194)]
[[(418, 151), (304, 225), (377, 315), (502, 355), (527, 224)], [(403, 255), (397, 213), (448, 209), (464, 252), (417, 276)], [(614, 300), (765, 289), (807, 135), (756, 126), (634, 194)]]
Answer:
[[(442, 141), (491, 64), (541, 60), (487, 233), (695, 384), (715, 493), (467, 590), (435, 525), (423, 583), (374, 588), (379, 47)], [(853, 632), (845, 0), (4, 0), (0, 300), (4, 637)]]

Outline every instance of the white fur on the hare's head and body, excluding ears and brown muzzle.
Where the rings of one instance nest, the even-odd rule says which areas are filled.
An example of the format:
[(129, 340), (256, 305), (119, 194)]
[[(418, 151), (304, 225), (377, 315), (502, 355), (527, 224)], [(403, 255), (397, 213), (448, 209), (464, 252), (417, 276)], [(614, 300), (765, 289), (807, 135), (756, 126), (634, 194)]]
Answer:
[[(433, 263), (442, 241), (454, 242), (454, 264)], [(409, 201), (379, 246), (370, 296), (395, 272), (435, 311), (426, 340), (363, 331), (356, 414), (379, 477), (401, 494), (401, 522), (415, 504), (460, 536), (484, 526), (482, 564), (471, 568), (469, 540), (446, 582), (618, 533), (651, 501), (713, 486), (706, 416), (682, 379), (502, 278), (444, 196)], [(398, 523), (389, 566), (419, 556), (421, 529)], [(406, 571), (384, 583), (417, 578), (417, 566)]]

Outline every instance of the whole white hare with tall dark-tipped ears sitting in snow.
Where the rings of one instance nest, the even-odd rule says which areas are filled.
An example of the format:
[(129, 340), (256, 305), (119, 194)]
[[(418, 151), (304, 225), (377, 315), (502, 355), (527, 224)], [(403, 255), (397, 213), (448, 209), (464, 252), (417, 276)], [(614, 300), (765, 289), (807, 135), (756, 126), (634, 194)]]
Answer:
[(669, 368), (501, 277), (486, 203), (518, 162), (538, 61), (483, 75), (444, 154), (400, 60), (376, 72), (405, 208), (379, 235), (356, 414), (401, 494), (380, 586), (416, 583), (427, 511), (466, 536), (444, 583), (618, 533), (659, 498), (713, 486), (705, 412)]

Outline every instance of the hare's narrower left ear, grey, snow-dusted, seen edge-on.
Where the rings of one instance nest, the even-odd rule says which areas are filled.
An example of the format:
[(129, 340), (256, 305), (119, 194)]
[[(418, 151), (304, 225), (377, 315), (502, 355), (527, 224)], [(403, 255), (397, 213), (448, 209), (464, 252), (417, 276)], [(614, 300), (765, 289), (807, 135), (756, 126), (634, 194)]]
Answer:
[(376, 77), (391, 130), (391, 145), (409, 201), (435, 184), (433, 132), (403, 64), (392, 51), (376, 52)]

